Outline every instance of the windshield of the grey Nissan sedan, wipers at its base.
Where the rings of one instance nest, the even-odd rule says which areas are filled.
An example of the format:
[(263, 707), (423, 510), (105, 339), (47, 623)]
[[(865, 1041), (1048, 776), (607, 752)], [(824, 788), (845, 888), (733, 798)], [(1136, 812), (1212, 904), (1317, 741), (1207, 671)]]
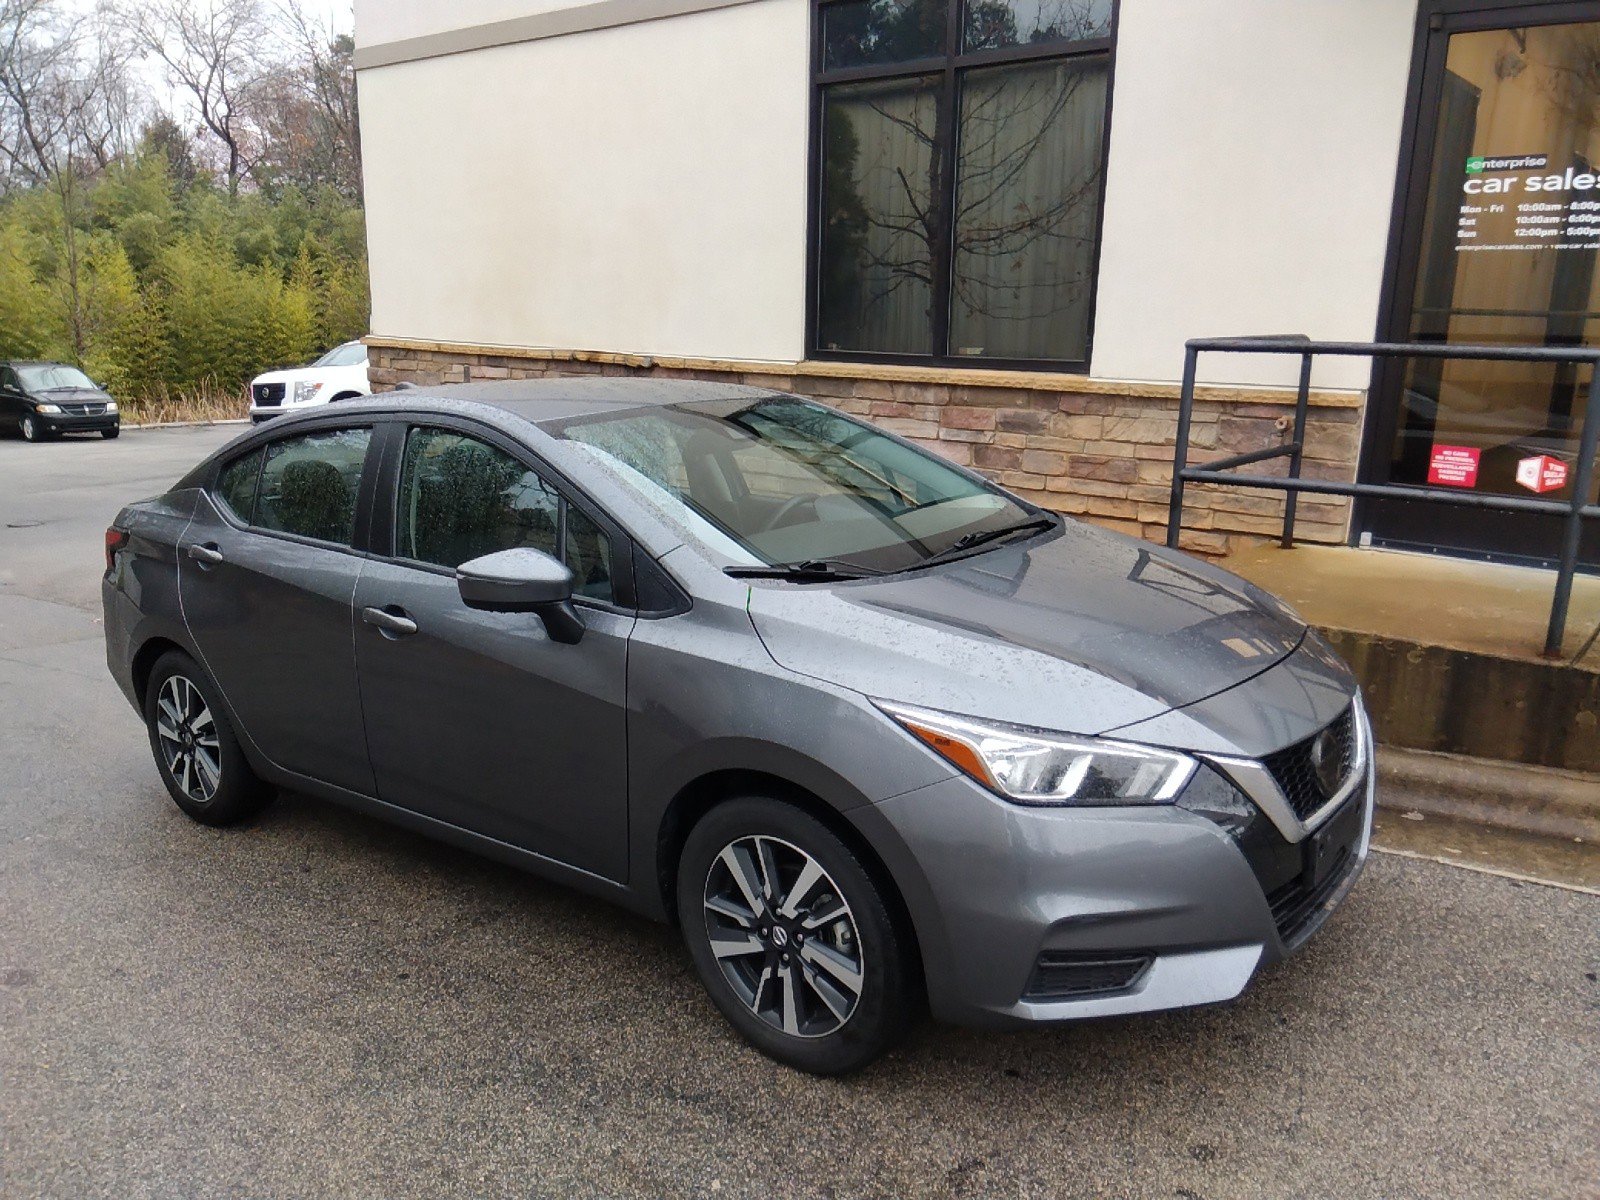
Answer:
[(701, 402), (549, 426), (736, 562), (896, 571), (1037, 517), (822, 405)]

